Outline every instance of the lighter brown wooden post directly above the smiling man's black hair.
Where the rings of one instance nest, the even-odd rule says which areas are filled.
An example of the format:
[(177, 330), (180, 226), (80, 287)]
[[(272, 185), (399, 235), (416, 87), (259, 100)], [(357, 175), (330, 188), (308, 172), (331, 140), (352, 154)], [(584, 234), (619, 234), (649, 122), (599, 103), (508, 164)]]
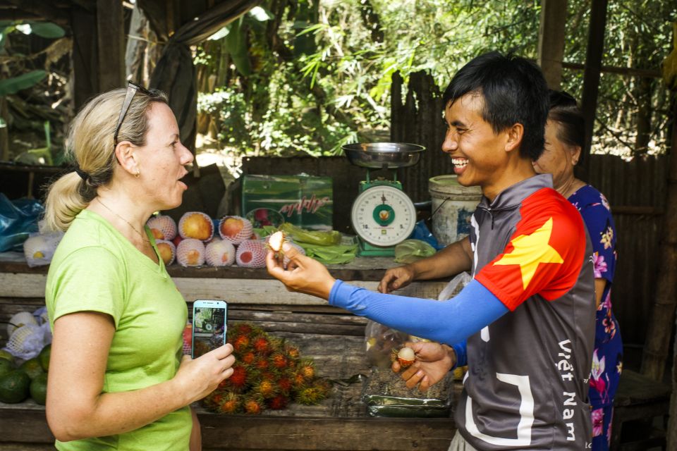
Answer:
[(537, 63), (550, 89), (559, 89), (564, 56), (566, 0), (541, 0)]

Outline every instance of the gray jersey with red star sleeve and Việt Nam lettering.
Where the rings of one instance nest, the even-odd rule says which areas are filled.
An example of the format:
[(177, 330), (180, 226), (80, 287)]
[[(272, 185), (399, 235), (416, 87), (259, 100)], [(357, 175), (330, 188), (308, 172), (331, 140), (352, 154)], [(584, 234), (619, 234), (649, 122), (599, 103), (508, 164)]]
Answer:
[(510, 311), (468, 338), (456, 425), (477, 450), (584, 450), (594, 338), (592, 247), (549, 175), (472, 216), (473, 277)]

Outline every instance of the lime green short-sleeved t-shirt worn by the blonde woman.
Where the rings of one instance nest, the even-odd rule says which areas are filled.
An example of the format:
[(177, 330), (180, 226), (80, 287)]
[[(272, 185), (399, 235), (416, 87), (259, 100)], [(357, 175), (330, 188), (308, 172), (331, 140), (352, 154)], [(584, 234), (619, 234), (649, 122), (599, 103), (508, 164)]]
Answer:
[[(138, 390), (176, 374), (188, 309), (162, 259), (159, 262), (155, 264), (108, 221), (88, 210), (76, 216), (54, 253), (45, 292), (51, 326), (76, 311), (109, 314), (115, 323), (104, 393)], [(56, 448), (185, 451), (192, 425), (190, 409), (183, 407), (135, 431), (66, 443), (57, 440)]]

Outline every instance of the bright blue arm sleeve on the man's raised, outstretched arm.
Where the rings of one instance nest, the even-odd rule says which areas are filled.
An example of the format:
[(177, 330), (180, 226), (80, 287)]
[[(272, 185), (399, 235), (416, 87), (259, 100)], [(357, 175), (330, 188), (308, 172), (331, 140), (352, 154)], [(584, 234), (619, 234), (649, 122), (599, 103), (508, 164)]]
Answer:
[(477, 280), (446, 301), (384, 295), (336, 280), (329, 304), (447, 345), (465, 340), (508, 312), (503, 302)]

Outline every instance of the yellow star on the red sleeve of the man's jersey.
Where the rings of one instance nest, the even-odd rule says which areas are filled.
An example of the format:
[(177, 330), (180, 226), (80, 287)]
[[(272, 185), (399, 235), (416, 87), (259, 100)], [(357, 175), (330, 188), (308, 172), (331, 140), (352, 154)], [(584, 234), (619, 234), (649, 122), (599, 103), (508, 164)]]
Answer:
[(522, 272), (522, 285), (527, 289), (536, 273), (539, 263), (563, 263), (559, 253), (551, 247), (552, 218), (531, 235), (520, 235), (511, 241), (513, 252), (504, 254), (494, 265), (519, 265)]

